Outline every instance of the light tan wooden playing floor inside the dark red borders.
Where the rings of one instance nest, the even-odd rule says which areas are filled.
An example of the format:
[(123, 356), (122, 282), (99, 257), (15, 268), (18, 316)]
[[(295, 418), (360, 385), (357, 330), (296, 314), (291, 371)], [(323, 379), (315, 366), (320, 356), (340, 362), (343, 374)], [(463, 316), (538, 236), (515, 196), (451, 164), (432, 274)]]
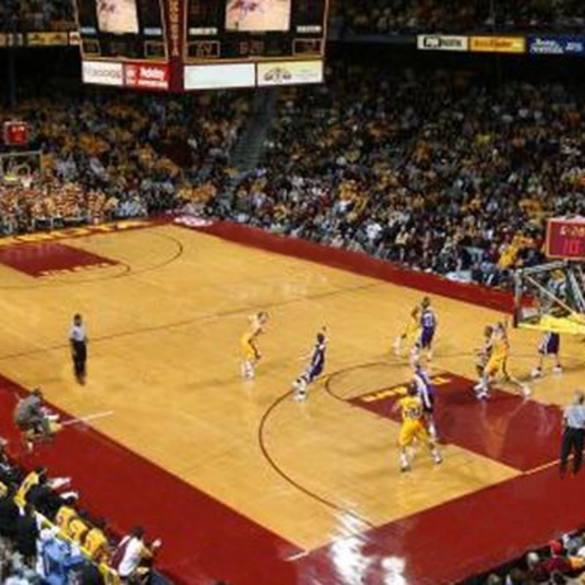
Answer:
[[(36, 277), (0, 264), (0, 372), (74, 415), (113, 411), (95, 428), (303, 550), (530, 472), (449, 444), (441, 466), (421, 452), (401, 474), (398, 424), (348, 402), (408, 380), (391, 342), (418, 291), (173, 225), (65, 243), (111, 262)], [(474, 378), (473, 349), (501, 315), (433, 304), (432, 371)], [(260, 309), (264, 360), (242, 381), (239, 337)], [(74, 312), (90, 336), (84, 387), (68, 355)], [(339, 374), (299, 405), (287, 393), (324, 324), (326, 374)], [(538, 334), (511, 338), (510, 369), (527, 377)], [(532, 384), (532, 400), (563, 404), (583, 384), (579, 340), (563, 339), (563, 355), (566, 372)]]

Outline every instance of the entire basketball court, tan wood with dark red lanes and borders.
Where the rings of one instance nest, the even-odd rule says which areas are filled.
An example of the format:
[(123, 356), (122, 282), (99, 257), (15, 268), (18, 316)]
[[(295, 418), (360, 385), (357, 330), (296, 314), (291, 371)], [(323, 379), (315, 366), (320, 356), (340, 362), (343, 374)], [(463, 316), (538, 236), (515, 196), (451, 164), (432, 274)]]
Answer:
[[(0, 244), (3, 410), (41, 386), (74, 417), (113, 413), (25, 463), (72, 476), (116, 531), (162, 536), (159, 565), (178, 582), (449, 583), (582, 520), (578, 507), (546, 508), (550, 490), (570, 503), (585, 483), (556, 470), (558, 406), (585, 380), (578, 338), (563, 337), (565, 373), (547, 364), (530, 400), (506, 383), (478, 402), (474, 348), (503, 314), (433, 295), (444, 462), (421, 449), (403, 474), (390, 411), (409, 368), (391, 344), (421, 291), (171, 223)], [(243, 381), (239, 337), (259, 310), (265, 357)], [(75, 312), (90, 338), (86, 386), (68, 353)], [(297, 404), (291, 381), (324, 324), (326, 376)], [(539, 337), (511, 332), (514, 376), (528, 380)]]

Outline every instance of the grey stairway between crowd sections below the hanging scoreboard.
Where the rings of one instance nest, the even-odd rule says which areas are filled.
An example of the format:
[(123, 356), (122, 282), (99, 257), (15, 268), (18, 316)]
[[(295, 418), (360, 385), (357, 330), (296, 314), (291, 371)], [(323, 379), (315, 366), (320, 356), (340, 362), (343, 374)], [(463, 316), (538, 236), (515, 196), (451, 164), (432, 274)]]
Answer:
[(252, 115), (230, 155), (231, 165), (242, 173), (252, 171), (260, 163), (264, 141), (276, 112), (276, 102), (276, 90), (256, 90), (252, 102)]

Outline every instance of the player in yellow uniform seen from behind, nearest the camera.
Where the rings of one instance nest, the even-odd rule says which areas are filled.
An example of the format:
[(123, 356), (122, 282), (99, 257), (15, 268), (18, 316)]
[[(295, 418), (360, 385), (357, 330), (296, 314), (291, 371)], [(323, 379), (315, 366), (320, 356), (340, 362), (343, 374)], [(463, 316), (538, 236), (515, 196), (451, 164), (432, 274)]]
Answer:
[(400, 470), (402, 472), (408, 472), (411, 469), (407, 449), (415, 441), (425, 442), (431, 452), (433, 463), (436, 465), (441, 463), (443, 460), (441, 453), (435, 441), (433, 441), (426, 430), (422, 400), (418, 395), (417, 385), (414, 382), (408, 385), (407, 395), (394, 405), (393, 411), (398, 410), (401, 411), (402, 415), (402, 427), (400, 429), (400, 435), (398, 435)]

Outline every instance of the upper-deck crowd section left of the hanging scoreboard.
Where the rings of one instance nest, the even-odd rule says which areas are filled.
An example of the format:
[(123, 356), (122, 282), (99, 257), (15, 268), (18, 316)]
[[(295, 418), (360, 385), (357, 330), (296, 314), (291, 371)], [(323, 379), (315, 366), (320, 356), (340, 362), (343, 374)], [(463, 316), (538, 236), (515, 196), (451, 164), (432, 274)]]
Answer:
[(74, 0), (2, 0), (0, 32), (75, 29)]

